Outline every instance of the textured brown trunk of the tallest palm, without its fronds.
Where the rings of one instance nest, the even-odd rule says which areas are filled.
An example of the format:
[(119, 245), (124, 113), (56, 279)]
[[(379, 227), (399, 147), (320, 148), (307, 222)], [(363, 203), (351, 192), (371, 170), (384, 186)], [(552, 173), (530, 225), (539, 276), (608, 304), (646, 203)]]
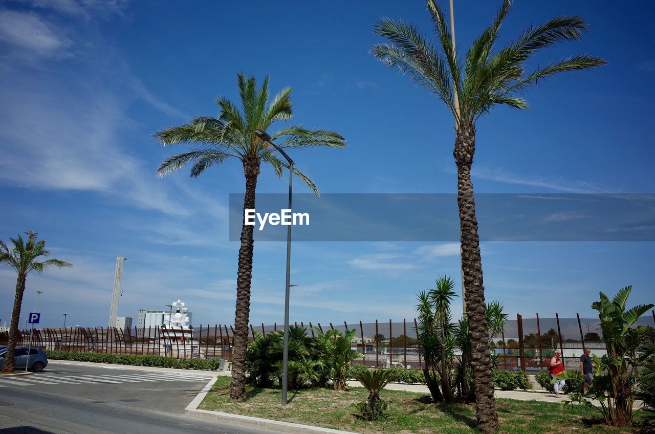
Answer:
[(487, 334), (485, 288), (482, 285), (480, 239), (477, 235), (476, 202), (471, 182), (471, 165), (476, 151), (476, 127), (459, 125), (453, 156), (457, 162), (457, 205), (459, 207), (462, 268), (466, 288), (466, 317), (470, 326), (471, 367), (476, 391), (477, 429), (483, 433), (498, 431), (498, 415), (493, 398), (491, 353)]

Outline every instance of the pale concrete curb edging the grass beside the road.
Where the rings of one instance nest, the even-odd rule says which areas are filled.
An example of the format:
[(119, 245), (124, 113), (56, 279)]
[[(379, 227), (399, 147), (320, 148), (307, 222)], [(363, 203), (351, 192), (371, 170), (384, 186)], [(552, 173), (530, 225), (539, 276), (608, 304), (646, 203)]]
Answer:
[(239, 425), (243, 427), (269, 429), (286, 434), (356, 434), (350, 431), (340, 431), (339, 429), (315, 427), (311, 425), (291, 424), (290, 422), (280, 422), (279, 420), (270, 420), (263, 418), (253, 418), (252, 416), (241, 416), (240, 414), (231, 414), (223, 412), (214, 412), (210, 410), (198, 410), (198, 406), (205, 399), (207, 393), (212, 389), (216, 382), (214, 377), (208, 382), (202, 391), (191, 401), (187, 408), (184, 409), (187, 416), (209, 420), (212, 422), (223, 422), (225, 424)]

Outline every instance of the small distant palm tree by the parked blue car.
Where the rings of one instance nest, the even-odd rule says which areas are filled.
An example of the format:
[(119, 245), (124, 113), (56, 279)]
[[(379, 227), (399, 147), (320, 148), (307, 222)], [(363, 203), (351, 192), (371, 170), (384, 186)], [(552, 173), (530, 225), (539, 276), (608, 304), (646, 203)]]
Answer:
[(25, 243), (22, 237), (18, 235), (18, 238), (10, 238), (10, 241), (14, 246), (11, 250), (0, 240), (0, 264), (10, 266), (18, 273), (14, 309), (11, 313), (11, 324), (9, 325), (7, 358), (5, 359), (5, 366), (2, 368), (3, 372), (12, 372), (14, 370), (14, 350), (18, 342), (18, 318), (20, 317), (20, 306), (23, 304), (23, 294), (25, 292), (25, 283), (28, 279), (28, 274), (31, 271), (43, 273), (43, 270), (50, 267), (63, 268), (72, 266), (72, 264), (58, 259), (48, 259), (38, 262), (41, 256), (44, 258), (50, 256), (50, 251), (45, 248), (45, 240), (36, 241), (35, 238), (29, 237), (28, 242)]

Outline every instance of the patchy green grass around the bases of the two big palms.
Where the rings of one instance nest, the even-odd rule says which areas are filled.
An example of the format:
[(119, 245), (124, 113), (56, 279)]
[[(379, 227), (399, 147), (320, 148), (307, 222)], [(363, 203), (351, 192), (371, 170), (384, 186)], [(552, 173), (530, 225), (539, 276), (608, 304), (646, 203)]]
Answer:
[[(358, 433), (476, 433), (475, 408), (472, 405), (451, 406), (431, 403), (421, 393), (383, 390), (381, 397), (388, 402), (389, 410), (383, 420), (367, 422), (356, 415), (355, 404), (366, 399), (364, 388), (352, 387), (346, 392), (331, 389), (303, 389), (289, 391), (289, 403), (280, 406), (279, 389), (248, 387), (244, 403), (234, 403), (229, 397), (229, 377), (219, 377), (199, 408), (295, 422), (297, 424), (343, 429)], [(592, 408), (537, 401), (496, 401), (500, 432), (512, 434), (626, 434), (636, 429), (610, 428), (599, 420)]]

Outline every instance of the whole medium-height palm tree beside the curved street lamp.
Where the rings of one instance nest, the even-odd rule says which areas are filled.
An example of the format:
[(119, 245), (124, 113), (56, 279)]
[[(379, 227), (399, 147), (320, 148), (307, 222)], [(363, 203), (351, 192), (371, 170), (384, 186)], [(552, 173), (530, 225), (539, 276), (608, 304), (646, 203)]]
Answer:
[[(255, 188), (261, 163), (268, 163), (282, 176), (288, 167), (275, 154), (275, 149), (263, 142), (253, 132), (267, 130), (276, 121), (288, 121), (292, 117), (291, 88), (280, 90), (269, 104), (269, 77), (257, 89), (255, 77), (246, 78), (237, 74), (241, 109), (223, 96), (216, 98), (219, 106), (217, 117), (195, 117), (179, 127), (170, 127), (155, 133), (155, 139), (164, 146), (191, 144), (198, 146), (186, 153), (168, 157), (157, 169), (158, 176), (178, 170), (187, 163), (191, 166), (191, 177), (197, 178), (206, 168), (221, 165), (231, 157), (241, 161), (246, 176), (244, 210), (255, 209)], [(282, 149), (306, 148), (308, 146), (330, 146), (343, 148), (345, 139), (336, 132), (323, 129), (307, 129), (301, 125), (289, 125), (271, 134), (271, 140)], [(314, 183), (293, 168), (301, 180), (318, 194)], [(248, 321), (250, 316), (250, 281), (252, 279), (253, 226), (241, 229), (238, 271), (236, 278), (236, 313), (234, 317), (234, 360), (230, 396), (243, 401), (246, 398), (246, 347), (248, 345)]]

